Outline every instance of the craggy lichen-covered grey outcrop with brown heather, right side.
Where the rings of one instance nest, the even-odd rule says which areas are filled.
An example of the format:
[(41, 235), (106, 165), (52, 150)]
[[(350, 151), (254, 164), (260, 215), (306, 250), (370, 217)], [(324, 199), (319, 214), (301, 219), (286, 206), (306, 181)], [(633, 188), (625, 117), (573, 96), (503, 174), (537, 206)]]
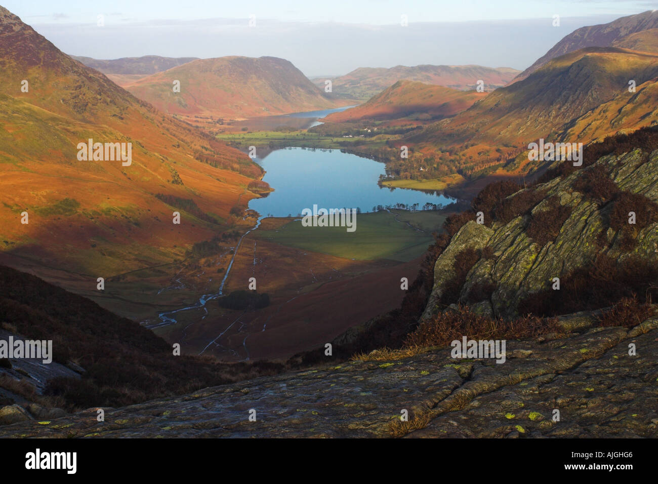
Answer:
[[(488, 246), (493, 257), (482, 257), (470, 269), (461, 290), (461, 302), (465, 301), (474, 283), (489, 281), (495, 285), (491, 298), (473, 306), (505, 317), (514, 316), (519, 302), (524, 298), (551, 288), (553, 278), (563, 277), (569, 271), (583, 267), (597, 254), (606, 254), (617, 261), (639, 256), (647, 262), (656, 263), (658, 224), (652, 223), (640, 230), (632, 250), (622, 248), (620, 233), (610, 228), (605, 231), (609, 204), (599, 207), (586, 194), (574, 188), (581, 176), (598, 169), (609, 172), (620, 190), (642, 194), (658, 202), (658, 151), (649, 155), (637, 149), (620, 157), (608, 155), (565, 178), (553, 178), (532, 188), (542, 190), (545, 198), (534, 206), (529, 215), (521, 215), (505, 224), (494, 222), (491, 227), (470, 221), (453, 236), (450, 245), (436, 261), (434, 289), (423, 318), (443, 309), (438, 301), (453, 277), (455, 255), (468, 248), (478, 250)], [(554, 197), (557, 197), (561, 207), (570, 210), (570, 215), (555, 240), (542, 246), (528, 236), (526, 225), (530, 216), (541, 220), (542, 212), (548, 209)], [(605, 235), (603, 241), (601, 231)]]

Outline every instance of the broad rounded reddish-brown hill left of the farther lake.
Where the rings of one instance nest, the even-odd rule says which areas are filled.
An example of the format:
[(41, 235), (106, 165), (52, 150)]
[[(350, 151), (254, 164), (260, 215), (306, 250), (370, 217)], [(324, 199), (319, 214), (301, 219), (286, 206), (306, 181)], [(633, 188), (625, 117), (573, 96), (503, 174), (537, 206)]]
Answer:
[[(180, 92), (172, 83), (180, 81)], [(344, 102), (324, 94), (289, 61), (277, 57), (199, 59), (127, 84), (166, 113), (247, 118), (330, 109)]]

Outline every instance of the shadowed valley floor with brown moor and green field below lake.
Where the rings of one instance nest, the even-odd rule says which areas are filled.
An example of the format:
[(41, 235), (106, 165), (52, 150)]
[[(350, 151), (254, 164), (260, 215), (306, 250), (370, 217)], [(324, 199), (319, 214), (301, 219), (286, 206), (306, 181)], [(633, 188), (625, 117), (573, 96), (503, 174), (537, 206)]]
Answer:
[[(183, 354), (204, 354), (224, 361), (287, 359), (323, 345), (354, 325), (397, 308), (405, 294), (401, 278), (415, 279), (420, 261), (441, 230), (449, 211), (363, 213), (359, 230), (326, 228), (309, 232), (299, 221), (263, 219), (243, 238), (222, 242), (224, 248), (207, 257), (144, 267), (114, 275), (103, 292), (95, 277), (66, 267), (0, 253), (0, 263), (37, 275), (80, 294), (123, 317), (141, 322)], [(254, 227), (251, 213), (234, 228), (240, 234)], [(334, 230), (335, 229), (335, 230)], [(197, 309), (170, 315), (164, 325), (159, 313), (192, 306), (204, 294), (216, 294), (234, 252), (234, 263), (223, 294), (247, 289), (249, 278), (270, 296), (270, 306), (257, 311), (220, 308), (216, 299)], [(161, 325), (161, 326), (159, 326)]]

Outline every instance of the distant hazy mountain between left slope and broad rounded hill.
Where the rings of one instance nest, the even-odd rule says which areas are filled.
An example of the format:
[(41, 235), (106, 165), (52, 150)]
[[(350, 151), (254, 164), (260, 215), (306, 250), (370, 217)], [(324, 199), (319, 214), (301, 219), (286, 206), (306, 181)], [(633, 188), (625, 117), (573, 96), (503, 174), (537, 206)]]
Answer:
[(199, 57), (161, 57), (159, 55), (143, 55), (142, 57), (122, 57), (121, 59), (92, 59), (71, 55), (72, 59), (80, 61), (87, 67), (103, 72), (109, 80), (119, 86), (125, 86), (138, 79), (162, 72), (172, 67), (180, 66)]

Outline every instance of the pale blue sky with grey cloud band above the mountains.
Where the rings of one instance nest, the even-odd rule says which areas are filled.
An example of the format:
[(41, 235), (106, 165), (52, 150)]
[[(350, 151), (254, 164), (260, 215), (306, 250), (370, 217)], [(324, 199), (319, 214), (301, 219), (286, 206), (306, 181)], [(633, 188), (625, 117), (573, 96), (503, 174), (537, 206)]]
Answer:
[[(651, 10), (647, 0), (2, 0), (70, 55), (271, 55), (307, 76), (357, 67), (522, 70), (576, 28)], [(559, 15), (559, 26), (553, 16)], [(99, 15), (103, 25), (99, 26)], [(406, 25), (403, 21), (406, 19)], [(251, 25), (250, 25), (251, 20)]]

